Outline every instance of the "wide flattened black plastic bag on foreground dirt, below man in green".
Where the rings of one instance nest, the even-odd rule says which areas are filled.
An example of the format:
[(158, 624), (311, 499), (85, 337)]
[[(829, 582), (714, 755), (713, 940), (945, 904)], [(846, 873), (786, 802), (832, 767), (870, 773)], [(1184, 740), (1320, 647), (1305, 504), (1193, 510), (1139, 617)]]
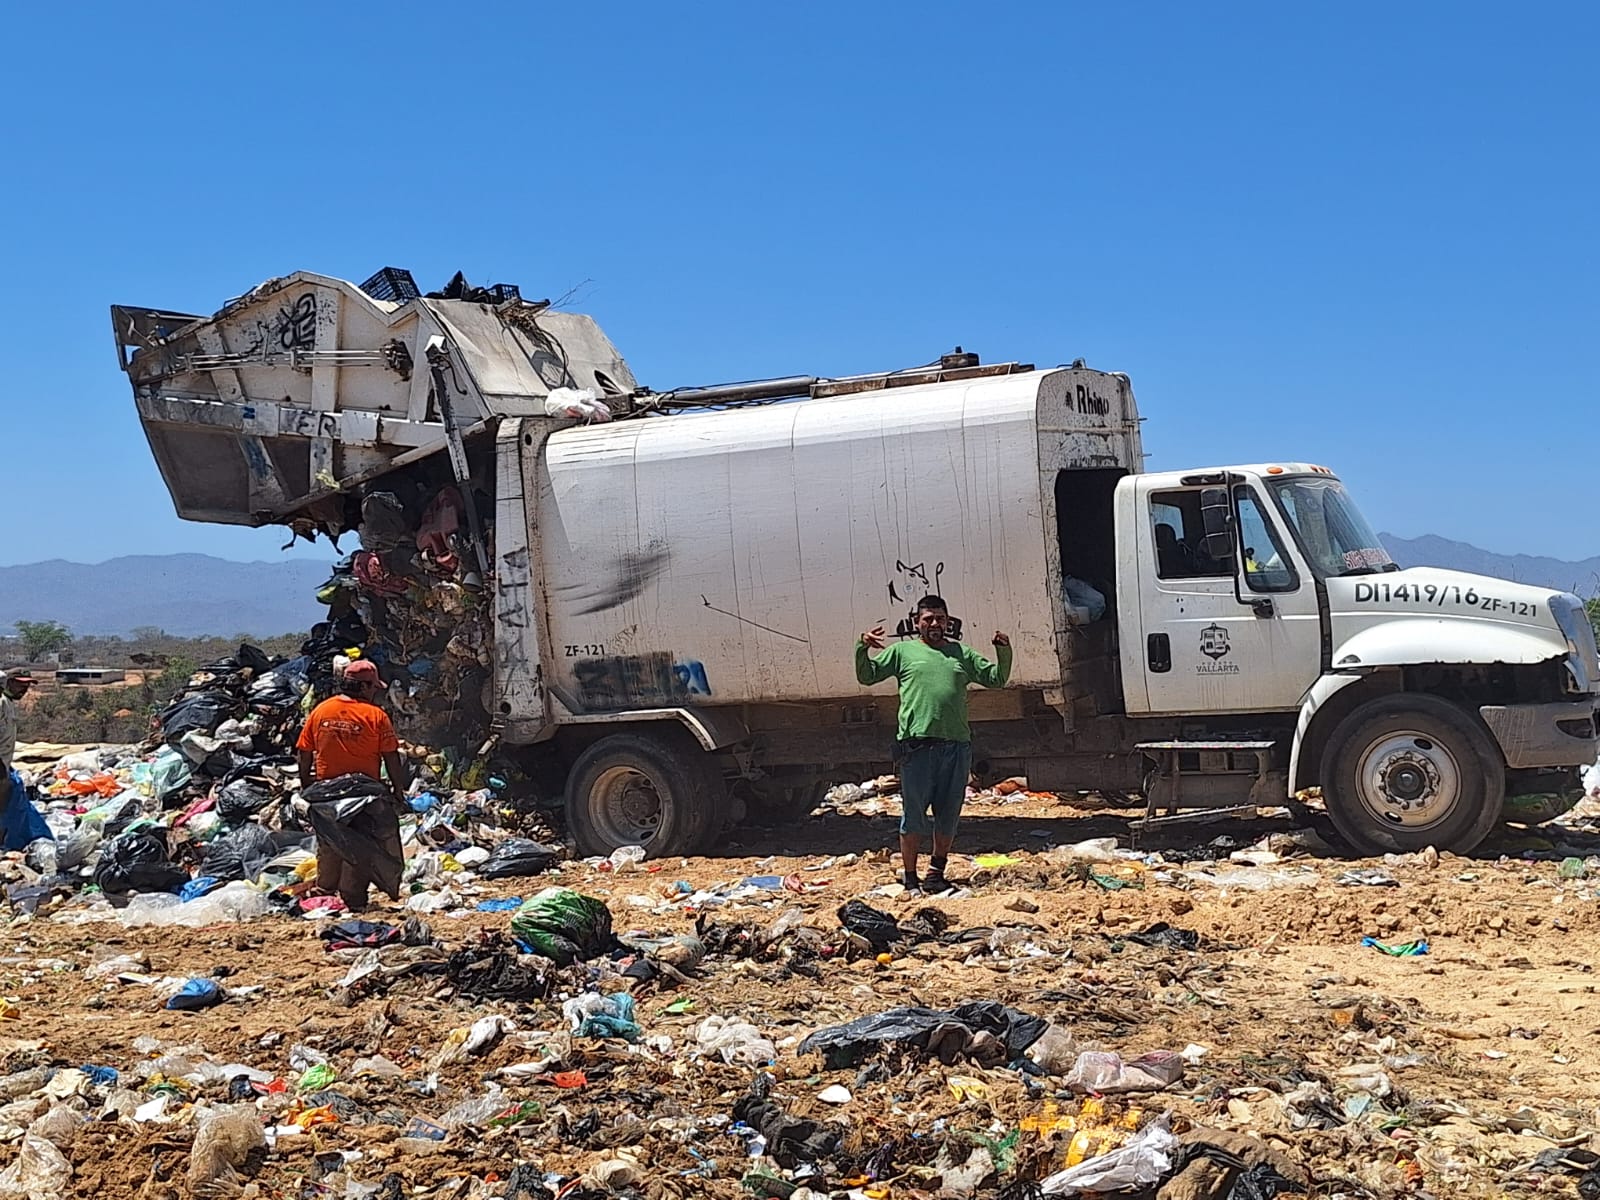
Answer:
[(946, 1066), (965, 1058), (1014, 1061), (1048, 1027), (994, 1000), (939, 1008), (890, 1008), (843, 1026), (829, 1026), (800, 1043), (800, 1053), (819, 1053), (829, 1070), (853, 1067), (890, 1045), (909, 1046)]

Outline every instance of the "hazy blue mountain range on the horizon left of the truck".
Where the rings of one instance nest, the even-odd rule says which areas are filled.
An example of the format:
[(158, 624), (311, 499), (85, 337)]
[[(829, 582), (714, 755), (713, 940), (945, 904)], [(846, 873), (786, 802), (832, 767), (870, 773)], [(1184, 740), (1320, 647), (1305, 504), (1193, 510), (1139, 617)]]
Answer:
[(312, 558), (234, 563), (205, 554), (0, 566), (0, 635), (16, 621), (59, 621), (74, 634), (298, 634), (326, 611), (315, 592), (328, 570)]

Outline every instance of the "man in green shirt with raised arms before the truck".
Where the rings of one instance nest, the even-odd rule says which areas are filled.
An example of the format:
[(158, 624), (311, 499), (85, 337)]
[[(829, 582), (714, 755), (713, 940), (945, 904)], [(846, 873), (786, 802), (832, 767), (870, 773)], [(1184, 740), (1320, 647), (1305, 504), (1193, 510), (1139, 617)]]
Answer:
[[(906, 886), (930, 894), (946, 891), (944, 864), (973, 773), (973, 731), (966, 723), (966, 688), (1003, 688), (1011, 677), (1011, 638), (995, 634), (995, 661), (950, 642), (944, 600), (917, 602), (917, 640), (885, 646), (883, 626), (856, 642), (856, 678), (864, 685), (899, 682), (901, 866)], [(874, 650), (883, 650), (877, 658)], [(928, 813), (933, 811), (930, 822)], [(933, 834), (928, 877), (917, 878), (922, 838)]]

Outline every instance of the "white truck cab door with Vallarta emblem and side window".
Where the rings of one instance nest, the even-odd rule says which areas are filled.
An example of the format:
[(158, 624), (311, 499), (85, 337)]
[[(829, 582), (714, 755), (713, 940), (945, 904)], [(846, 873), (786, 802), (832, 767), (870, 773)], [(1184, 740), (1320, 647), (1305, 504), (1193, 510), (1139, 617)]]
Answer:
[[(1293, 541), (1270, 501), (1235, 483), (1235, 550), (1208, 552), (1202, 501), (1227, 493), (1173, 483), (1147, 477), (1138, 491), (1142, 710), (1298, 709), (1322, 670), (1322, 621)], [(1136, 699), (1130, 686), (1130, 712)]]

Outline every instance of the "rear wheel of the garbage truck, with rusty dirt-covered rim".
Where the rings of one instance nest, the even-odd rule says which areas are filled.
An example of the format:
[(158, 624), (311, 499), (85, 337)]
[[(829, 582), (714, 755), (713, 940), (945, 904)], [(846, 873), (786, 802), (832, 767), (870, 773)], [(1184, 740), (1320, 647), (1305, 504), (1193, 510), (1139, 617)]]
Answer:
[(693, 854), (722, 832), (726, 797), (715, 762), (686, 736), (613, 733), (566, 776), (566, 827), (581, 854)]

